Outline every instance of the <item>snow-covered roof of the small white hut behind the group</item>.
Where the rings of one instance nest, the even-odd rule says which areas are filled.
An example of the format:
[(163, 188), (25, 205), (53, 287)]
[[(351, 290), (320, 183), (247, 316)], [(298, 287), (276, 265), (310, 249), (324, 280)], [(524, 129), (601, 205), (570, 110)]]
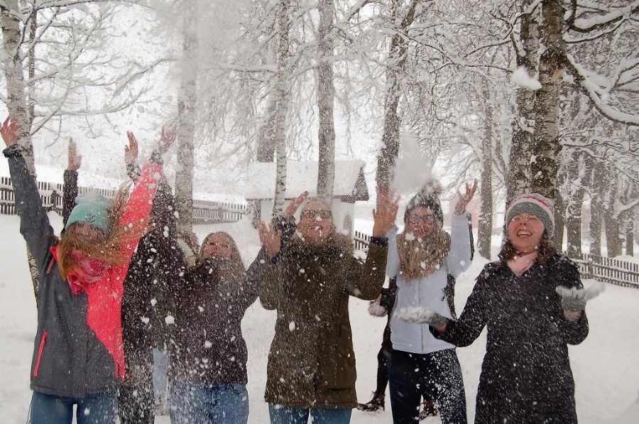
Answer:
[[(317, 195), (317, 161), (288, 161), (286, 164), (286, 198), (300, 195), (308, 190)], [(368, 188), (364, 179), (364, 161), (335, 161), (335, 197), (356, 195), (356, 200), (368, 199)], [(275, 194), (275, 163), (253, 163), (249, 168), (248, 182), (243, 194), (247, 200), (272, 199)], [(361, 187), (361, 185), (364, 185)], [(358, 190), (359, 185), (359, 190)]]

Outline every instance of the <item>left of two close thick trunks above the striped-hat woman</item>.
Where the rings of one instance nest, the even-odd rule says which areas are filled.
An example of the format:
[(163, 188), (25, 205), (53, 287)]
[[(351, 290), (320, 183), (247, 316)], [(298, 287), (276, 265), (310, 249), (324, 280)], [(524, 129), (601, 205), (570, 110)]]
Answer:
[[(528, 9), (531, 1), (522, 5)], [(539, 50), (539, 26), (537, 16), (523, 15), (521, 18), (521, 44), (525, 51), (517, 55), (517, 65), (523, 66), (528, 75), (537, 74), (537, 51)], [(514, 122), (513, 141), (508, 157), (508, 175), (506, 176), (506, 206), (517, 196), (530, 192), (530, 158), (535, 132), (535, 91), (517, 87), (515, 93), (517, 116)]]

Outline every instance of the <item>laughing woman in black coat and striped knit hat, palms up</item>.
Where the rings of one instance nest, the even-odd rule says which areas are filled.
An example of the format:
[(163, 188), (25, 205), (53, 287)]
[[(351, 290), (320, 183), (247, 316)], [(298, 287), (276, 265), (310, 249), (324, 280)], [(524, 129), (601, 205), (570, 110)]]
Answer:
[(550, 237), (552, 204), (541, 195), (515, 199), (506, 212), (508, 239), (499, 261), (477, 278), (459, 320), (431, 310), (404, 310), (428, 322), (435, 337), (468, 346), (488, 329), (475, 423), (577, 423), (568, 344), (588, 335), (577, 266)]

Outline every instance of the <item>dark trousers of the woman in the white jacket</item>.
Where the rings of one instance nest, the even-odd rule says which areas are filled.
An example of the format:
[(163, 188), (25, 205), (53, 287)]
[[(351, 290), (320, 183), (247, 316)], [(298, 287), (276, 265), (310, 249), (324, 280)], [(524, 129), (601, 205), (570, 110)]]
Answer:
[(424, 389), (437, 399), (442, 424), (466, 424), (466, 393), (461, 367), (454, 349), (413, 354), (393, 349), (389, 368), (393, 423), (420, 420), (420, 397)]

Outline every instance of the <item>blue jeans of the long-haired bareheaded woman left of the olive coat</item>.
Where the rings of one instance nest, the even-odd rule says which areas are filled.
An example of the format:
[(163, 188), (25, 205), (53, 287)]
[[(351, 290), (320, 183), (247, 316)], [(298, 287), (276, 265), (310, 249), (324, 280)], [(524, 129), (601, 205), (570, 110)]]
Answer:
[(244, 384), (173, 381), (170, 408), (172, 424), (246, 424), (249, 392)]

